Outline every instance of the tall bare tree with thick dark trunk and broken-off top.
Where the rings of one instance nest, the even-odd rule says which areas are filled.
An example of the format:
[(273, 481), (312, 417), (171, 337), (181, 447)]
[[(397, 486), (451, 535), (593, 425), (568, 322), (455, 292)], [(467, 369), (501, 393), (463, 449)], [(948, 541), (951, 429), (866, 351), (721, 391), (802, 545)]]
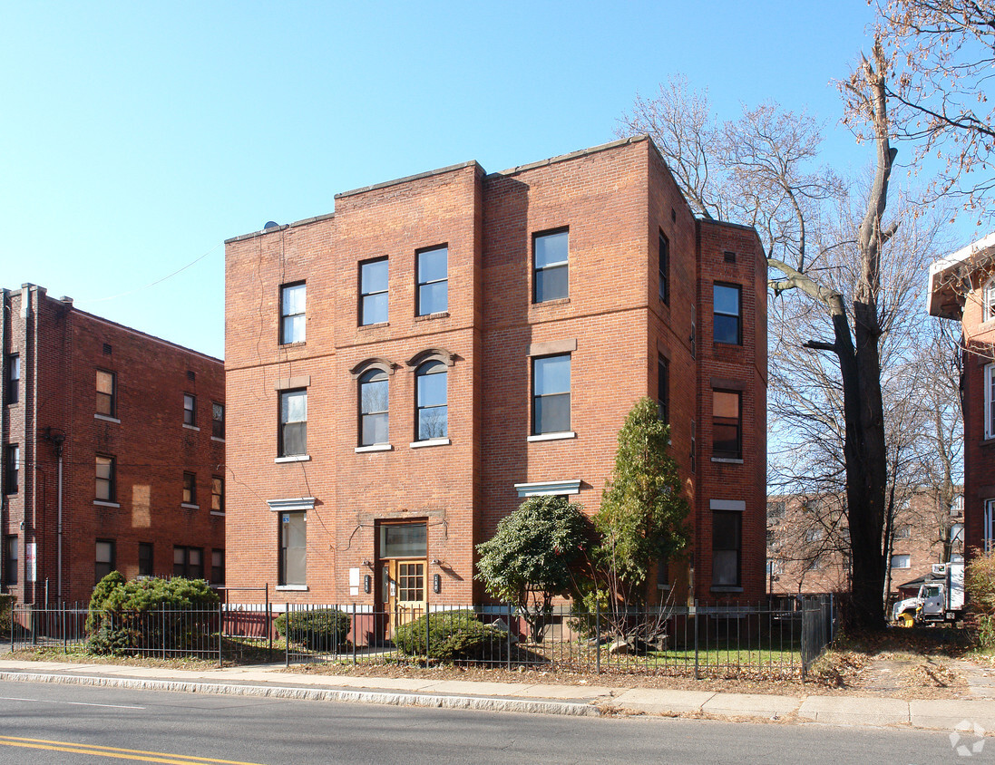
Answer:
[[(862, 57), (861, 65), (841, 89), (851, 123), (859, 126), (864, 137), (873, 142), (876, 155), (874, 178), (864, 195), (863, 216), (856, 230), (845, 240), (852, 243), (855, 274), (852, 292), (834, 287), (813, 267), (813, 259), (808, 254), (810, 209), (831, 192), (823, 191), (826, 183), (812, 180), (813, 171), (808, 169), (813, 159), (811, 137), (806, 140), (792, 138), (793, 132), (787, 128), (795, 124), (811, 128), (814, 125), (811, 119), (792, 114), (787, 114), (785, 119), (776, 118), (778, 109), (774, 106), (770, 112), (744, 112), (736, 125), (747, 134), (753, 130), (753, 125), (761, 125), (756, 133), (765, 138), (769, 130), (764, 126), (779, 125), (784, 138), (760, 140), (755, 151), (737, 153), (728, 145), (718, 145), (709, 151), (707, 132), (691, 142), (696, 148), (695, 154), (681, 151), (690, 139), (668, 141), (665, 135), (660, 146), (670, 164), (680, 166), (683, 163), (684, 169), (678, 173), (682, 183), (682, 177), (710, 178), (701, 169), (708, 166), (702, 165), (701, 157), (711, 157), (711, 167), (724, 163), (722, 175), (727, 183), (742, 185), (744, 195), (751, 200), (750, 206), (757, 211), (757, 217), (751, 222), (764, 238), (768, 266), (776, 272), (770, 283), (775, 295), (798, 290), (807, 297), (809, 305), (816, 306), (828, 319), (828, 333), (809, 338), (803, 347), (831, 354), (833, 366), (838, 367), (835, 379), (838, 380), (837, 394), (843, 418), (830, 427), (843, 442), (842, 475), (846, 476), (852, 546), (854, 620), (855, 626), (871, 629), (885, 624), (883, 533), (888, 461), (881, 379), (881, 311), (886, 305), (882, 273), (883, 250), (896, 232), (896, 224), (885, 221), (896, 157), (888, 114), (889, 67), (890, 62), (876, 41), (871, 57)], [(674, 98), (680, 93), (680, 90), (665, 91), (664, 95)], [(637, 109), (639, 106), (637, 102)], [(674, 102), (663, 104), (663, 108), (676, 119), (684, 113)], [(697, 115), (696, 121), (684, 122), (680, 134), (694, 134), (696, 125), (711, 123), (710, 117)], [(623, 131), (636, 129), (641, 124), (638, 119), (627, 117), (623, 120)], [(810, 135), (818, 137), (818, 126), (815, 128)], [(654, 134), (654, 138), (657, 137)], [(772, 145), (778, 147), (777, 151), (771, 152)], [(742, 162), (741, 172), (739, 162)], [(815, 172), (823, 178), (830, 177), (826, 171)], [(697, 204), (702, 210), (721, 210), (723, 206), (728, 209), (728, 199), (735, 198), (736, 194), (726, 192), (722, 196), (722, 190), (728, 188), (722, 183), (716, 183), (715, 188), (719, 192), (718, 201), (707, 196), (708, 183), (699, 184), (694, 192), (686, 191), (693, 200), (700, 200)], [(819, 248), (820, 254), (837, 244), (824, 243)]]

